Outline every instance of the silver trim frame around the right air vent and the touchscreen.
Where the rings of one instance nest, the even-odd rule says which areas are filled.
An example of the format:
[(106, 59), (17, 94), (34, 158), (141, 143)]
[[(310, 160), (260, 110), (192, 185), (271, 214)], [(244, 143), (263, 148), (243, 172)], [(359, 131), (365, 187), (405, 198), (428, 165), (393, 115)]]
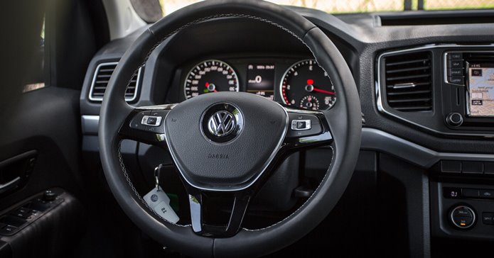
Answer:
[[(397, 118), (399, 120), (403, 120), (409, 124), (415, 125), (419, 128), (423, 128), (426, 130), (429, 130), (430, 132), (437, 133), (439, 135), (463, 135), (463, 136), (476, 136), (476, 137), (485, 137), (485, 138), (493, 138), (494, 134), (489, 134), (489, 135), (480, 135), (480, 134), (473, 134), (473, 133), (445, 133), (441, 132), (438, 130), (434, 130), (432, 128), (426, 127), (424, 125), (420, 125), (419, 123), (415, 123), (411, 120), (408, 120), (407, 118), (402, 118), (401, 116), (398, 116), (390, 111), (387, 111), (383, 101), (382, 101), (382, 94), (381, 94), (381, 60), (382, 57), (385, 57), (387, 55), (394, 55), (394, 54), (399, 54), (399, 53), (405, 53), (405, 52), (413, 52), (417, 50), (431, 50), (435, 48), (445, 48), (451, 49), (451, 48), (465, 48), (465, 47), (494, 47), (494, 44), (485, 44), (485, 45), (456, 45), (456, 44), (444, 44), (444, 45), (424, 45), (422, 47), (412, 47), (412, 48), (407, 48), (403, 50), (395, 50), (395, 51), (388, 51), (388, 52), (383, 52), (377, 57), (377, 69), (375, 69), (375, 96), (376, 96), (376, 106), (377, 110), (380, 111), (381, 113), (385, 113), (388, 116), (392, 116), (394, 118)], [(480, 51), (482, 52), (482, 51)], [(444, 65), (444, 63), (443, 63)], [(446, 72), (446, 68), (444, 68), (444, 72)], [(433, 90), (433, 98), (434, 98), (434, 90)]]

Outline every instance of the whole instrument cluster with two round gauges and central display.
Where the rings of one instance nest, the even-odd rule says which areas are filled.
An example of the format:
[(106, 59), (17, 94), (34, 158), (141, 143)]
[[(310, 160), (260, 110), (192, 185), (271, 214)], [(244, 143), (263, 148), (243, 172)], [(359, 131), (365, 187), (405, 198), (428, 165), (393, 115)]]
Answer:
[(183, 69), (183, 97), (245, 91), (309, 110), (333, 106), (331, 78), (313, 59), (209, 59)]

